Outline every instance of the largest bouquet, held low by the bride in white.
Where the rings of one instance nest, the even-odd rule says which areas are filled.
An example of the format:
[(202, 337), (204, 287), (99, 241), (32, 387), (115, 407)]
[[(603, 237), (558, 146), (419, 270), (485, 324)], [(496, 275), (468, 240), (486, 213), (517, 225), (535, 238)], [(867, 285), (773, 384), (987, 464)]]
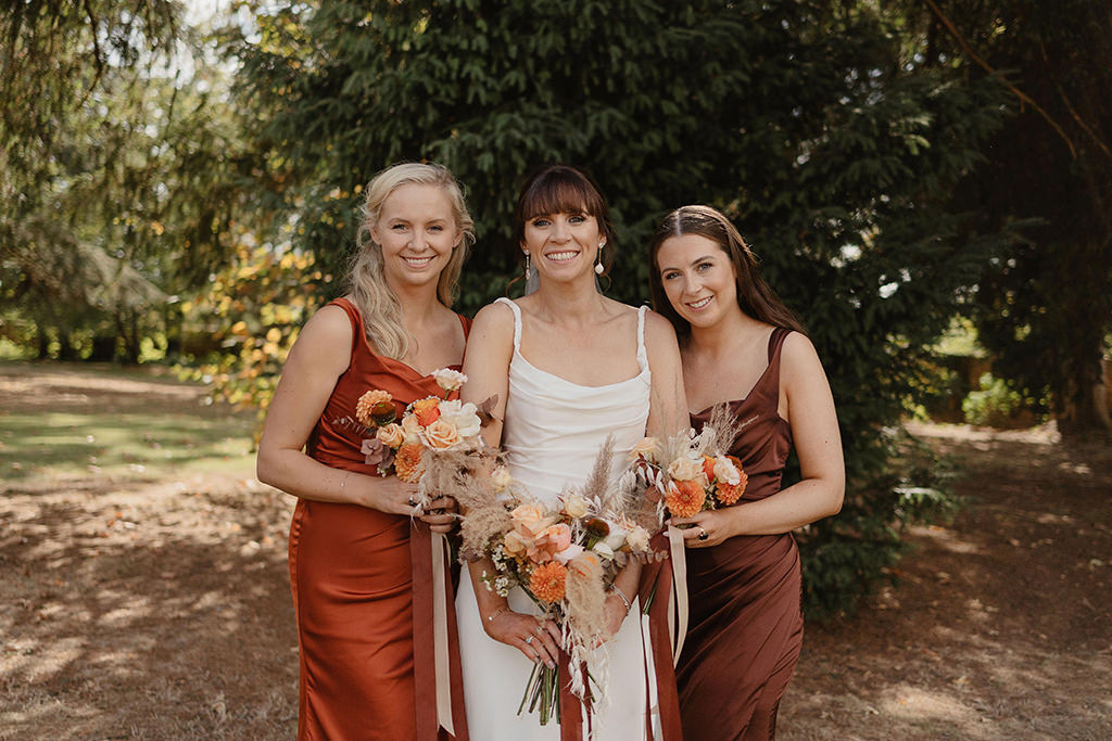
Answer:
[[(607, 638), (607, 592), (627, 559), (649, 553), (655, 512), (612, 482), (613, 443), (599, 451), (587, 481), (567, 489), (558, 505), (529, 495), (504, 467), (457, 494), (467, 515), (460, 529), (463, 551), (488, 557), (495, 573), (487, 588), (502, 595), (520, 588), (562, 630), (562, 648), (572, 670), (572, 691), (589, 708), (585, 675), (605, 689), (605, 655), (595, 651)], [(556, 669), (534, 667), (518, 705), (539, 713), (540, 724), (559, 719)]]

